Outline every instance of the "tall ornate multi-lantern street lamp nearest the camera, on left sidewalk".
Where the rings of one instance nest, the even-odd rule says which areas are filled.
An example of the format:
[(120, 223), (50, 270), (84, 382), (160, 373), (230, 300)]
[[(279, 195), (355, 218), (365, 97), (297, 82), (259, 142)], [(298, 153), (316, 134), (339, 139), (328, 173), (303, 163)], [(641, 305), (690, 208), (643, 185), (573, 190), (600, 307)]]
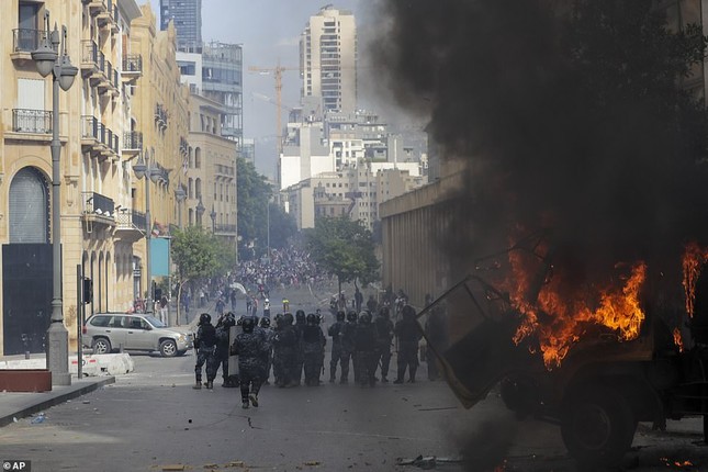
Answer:
[[(52, 372), (52, 383), (55, 385), (71, 385), (69, 373), (69, 331), (64, 326), (61, 302), (61, 212), (60, 212), (60, 166), (61, 143), (59, 142), (59, 88), (67, 91), (74, 83), (79, 69), (71, 65), (66, 53), (67, 31), (61, 26), (64, 42), (56, 23), (49, 33), (49, 12), (44, 14), (47, 35), (40, 47), (32, 52), (32, 60), (42, 77), (52, 74), (52, 265), (53, 294), (52, 318), (47, 329), (47, 370)], [(59, 56), (61, 45), (61, 56)], [(78, 346), (78, 349), (81, 347)]]

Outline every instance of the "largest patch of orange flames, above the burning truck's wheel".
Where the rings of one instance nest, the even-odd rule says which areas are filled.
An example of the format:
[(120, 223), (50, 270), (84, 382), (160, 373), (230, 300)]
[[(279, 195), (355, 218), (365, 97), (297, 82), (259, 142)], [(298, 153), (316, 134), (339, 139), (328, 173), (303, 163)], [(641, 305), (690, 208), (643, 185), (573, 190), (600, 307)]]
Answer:
[[(631, 274), (620, 288), (607, 288), (593, 297), (583, 291), (566, 294), (562, 290), (562, 278), (544, 281), (535, 302), (533, 283), (530, 279), (529, 262), (520, 252), (510, 252), (509, 262), (514, 283), (509, 299), (522, 315), (514, 342), (536, 335), (539, 340), (543, 363), (547, 369), (558, 368), (570, 349), (585, 334), (588, 325), (599, 325), (611, 329), (618, 340), (631, 340), (639, 336), (645, 314), (639, 303), (639, 292), (647, 278), (647, 265), (637, 262)], [(538, 258), (537, 265), (538, 265)], [(530, 295), (530, 296), (529, 296)], [(596, 299), (596, 307), (588, 306), (587, 300)]]

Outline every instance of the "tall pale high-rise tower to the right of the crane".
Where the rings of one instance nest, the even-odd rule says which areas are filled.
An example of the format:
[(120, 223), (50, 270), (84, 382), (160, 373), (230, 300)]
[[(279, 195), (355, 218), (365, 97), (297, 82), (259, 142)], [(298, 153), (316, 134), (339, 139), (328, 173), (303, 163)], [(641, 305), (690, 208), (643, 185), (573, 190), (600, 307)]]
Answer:
[(322, 100), (323, 111), (357, 109), (357, 25), (349, 11), (323, 7), (300, 37), (302, 95)]

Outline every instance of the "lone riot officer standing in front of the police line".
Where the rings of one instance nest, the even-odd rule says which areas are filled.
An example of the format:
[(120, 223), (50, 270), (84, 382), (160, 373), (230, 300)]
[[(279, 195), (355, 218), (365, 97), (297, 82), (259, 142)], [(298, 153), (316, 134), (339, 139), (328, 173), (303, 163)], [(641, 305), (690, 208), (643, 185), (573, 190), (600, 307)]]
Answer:
[(265, 355), (268, 346), (262, 333), (255, 330), (256, 318), (246, 316), (241, 321), (243, 333), (236, 335), (231, 353), (238, 356), (238, 379), (241, 406), (248, 408), (248, 401), (258, 406), (258, 392), (266, 373)]

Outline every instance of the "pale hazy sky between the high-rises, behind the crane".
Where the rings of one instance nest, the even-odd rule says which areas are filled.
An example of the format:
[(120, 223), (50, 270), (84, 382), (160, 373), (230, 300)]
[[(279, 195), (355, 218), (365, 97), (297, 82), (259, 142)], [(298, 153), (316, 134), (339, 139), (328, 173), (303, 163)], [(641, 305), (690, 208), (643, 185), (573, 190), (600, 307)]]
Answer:
[[(138, 0), (146, 3), (146, 0)], [(159, 21), (159, 0), (149, 0)], [(366, 24), (372, 0), (339, 0), (335, 8), (353, 12), (357, 27)], [(276, 100), (272, 75), (249, 72), (251, 66), (297, 67), (300, 33), (311, 15), (326, 0), (202, 0), (202, 40), (237, 43), (244, 46), (244, 136), (257, 139), (257, 167), (273, 177), (277, 108), (262, 95)], [(360, 48), (361, 49), (361, 48)], [(361, 54), (361, 52), (360, 52)], [(300, 74), (283, 72), (283, 104), (300, 102)], [(283, 123), (285, 120), (283, 119)]]

